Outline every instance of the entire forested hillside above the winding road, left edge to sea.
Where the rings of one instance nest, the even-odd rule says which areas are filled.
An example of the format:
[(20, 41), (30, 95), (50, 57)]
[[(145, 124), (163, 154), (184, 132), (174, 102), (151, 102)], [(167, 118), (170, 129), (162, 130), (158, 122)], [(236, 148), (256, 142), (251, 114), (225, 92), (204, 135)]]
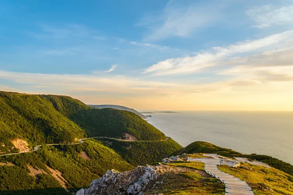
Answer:
[(166, 139), (134, 113), (93, 109), (66, 96), (0, 92), (0, 116), (0, 154), (19, 151), (15, 142), (27, 151), (36, 145), (72, 143), (83, 137)]

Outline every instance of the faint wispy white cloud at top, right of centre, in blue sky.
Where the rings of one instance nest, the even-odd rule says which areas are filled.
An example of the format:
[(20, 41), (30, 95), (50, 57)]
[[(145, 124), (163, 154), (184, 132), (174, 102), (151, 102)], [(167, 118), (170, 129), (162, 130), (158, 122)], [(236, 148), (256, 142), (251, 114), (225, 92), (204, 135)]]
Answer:
[(221, 6), (182, 7), (169, 1), (161, 16), (144, 17), (139, 25), (144, 25), (150, 29), (150, 34), (146, 40), (167, 39), (170, 37), (188, 37), (199, 28), (209, 26), (211, 23), (220, 20), (222, 14), (219, 13)]

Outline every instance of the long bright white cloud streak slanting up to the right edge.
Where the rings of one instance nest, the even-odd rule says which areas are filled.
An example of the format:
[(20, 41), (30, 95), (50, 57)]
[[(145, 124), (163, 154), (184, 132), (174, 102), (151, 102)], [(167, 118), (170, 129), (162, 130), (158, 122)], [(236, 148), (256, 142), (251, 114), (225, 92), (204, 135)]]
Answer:
[(213, 47), (210, 52), (202, 52), (193, 57), (166, 59), (146, 68), (143, 73), (152, 73), (156, 76), (192, 74), (203, 68), (220, 65), (237, 54), (264, 52), (288, 47), (290, 44), (293, 44), (293, 31), (285, 31), (262, 39), (237, 42), (226, 47)]

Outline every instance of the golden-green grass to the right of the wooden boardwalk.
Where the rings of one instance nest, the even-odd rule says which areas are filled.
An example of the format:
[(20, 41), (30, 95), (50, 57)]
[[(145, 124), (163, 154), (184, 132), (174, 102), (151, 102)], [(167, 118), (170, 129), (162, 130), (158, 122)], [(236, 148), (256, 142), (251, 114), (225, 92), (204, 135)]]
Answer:
[(277, 169), (249, 163), (241, 163), (239, 168), (218, 167), (220, 171), (246, 181), (255, 195), (293, 195), (292, 176)]

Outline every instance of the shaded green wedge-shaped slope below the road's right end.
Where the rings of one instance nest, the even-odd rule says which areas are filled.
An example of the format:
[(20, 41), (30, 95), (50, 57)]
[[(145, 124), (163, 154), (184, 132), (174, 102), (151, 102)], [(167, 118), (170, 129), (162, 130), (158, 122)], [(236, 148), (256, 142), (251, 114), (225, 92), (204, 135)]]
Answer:
[(173, 152), (182, 149), (176, 141), (169, 138), (167, 141), (118, 141), (108, 140), (111, 147), (118, 154), (123, 156), (132, 165), (145, 165), (160, 162), (163, 158), (169, 157)]

